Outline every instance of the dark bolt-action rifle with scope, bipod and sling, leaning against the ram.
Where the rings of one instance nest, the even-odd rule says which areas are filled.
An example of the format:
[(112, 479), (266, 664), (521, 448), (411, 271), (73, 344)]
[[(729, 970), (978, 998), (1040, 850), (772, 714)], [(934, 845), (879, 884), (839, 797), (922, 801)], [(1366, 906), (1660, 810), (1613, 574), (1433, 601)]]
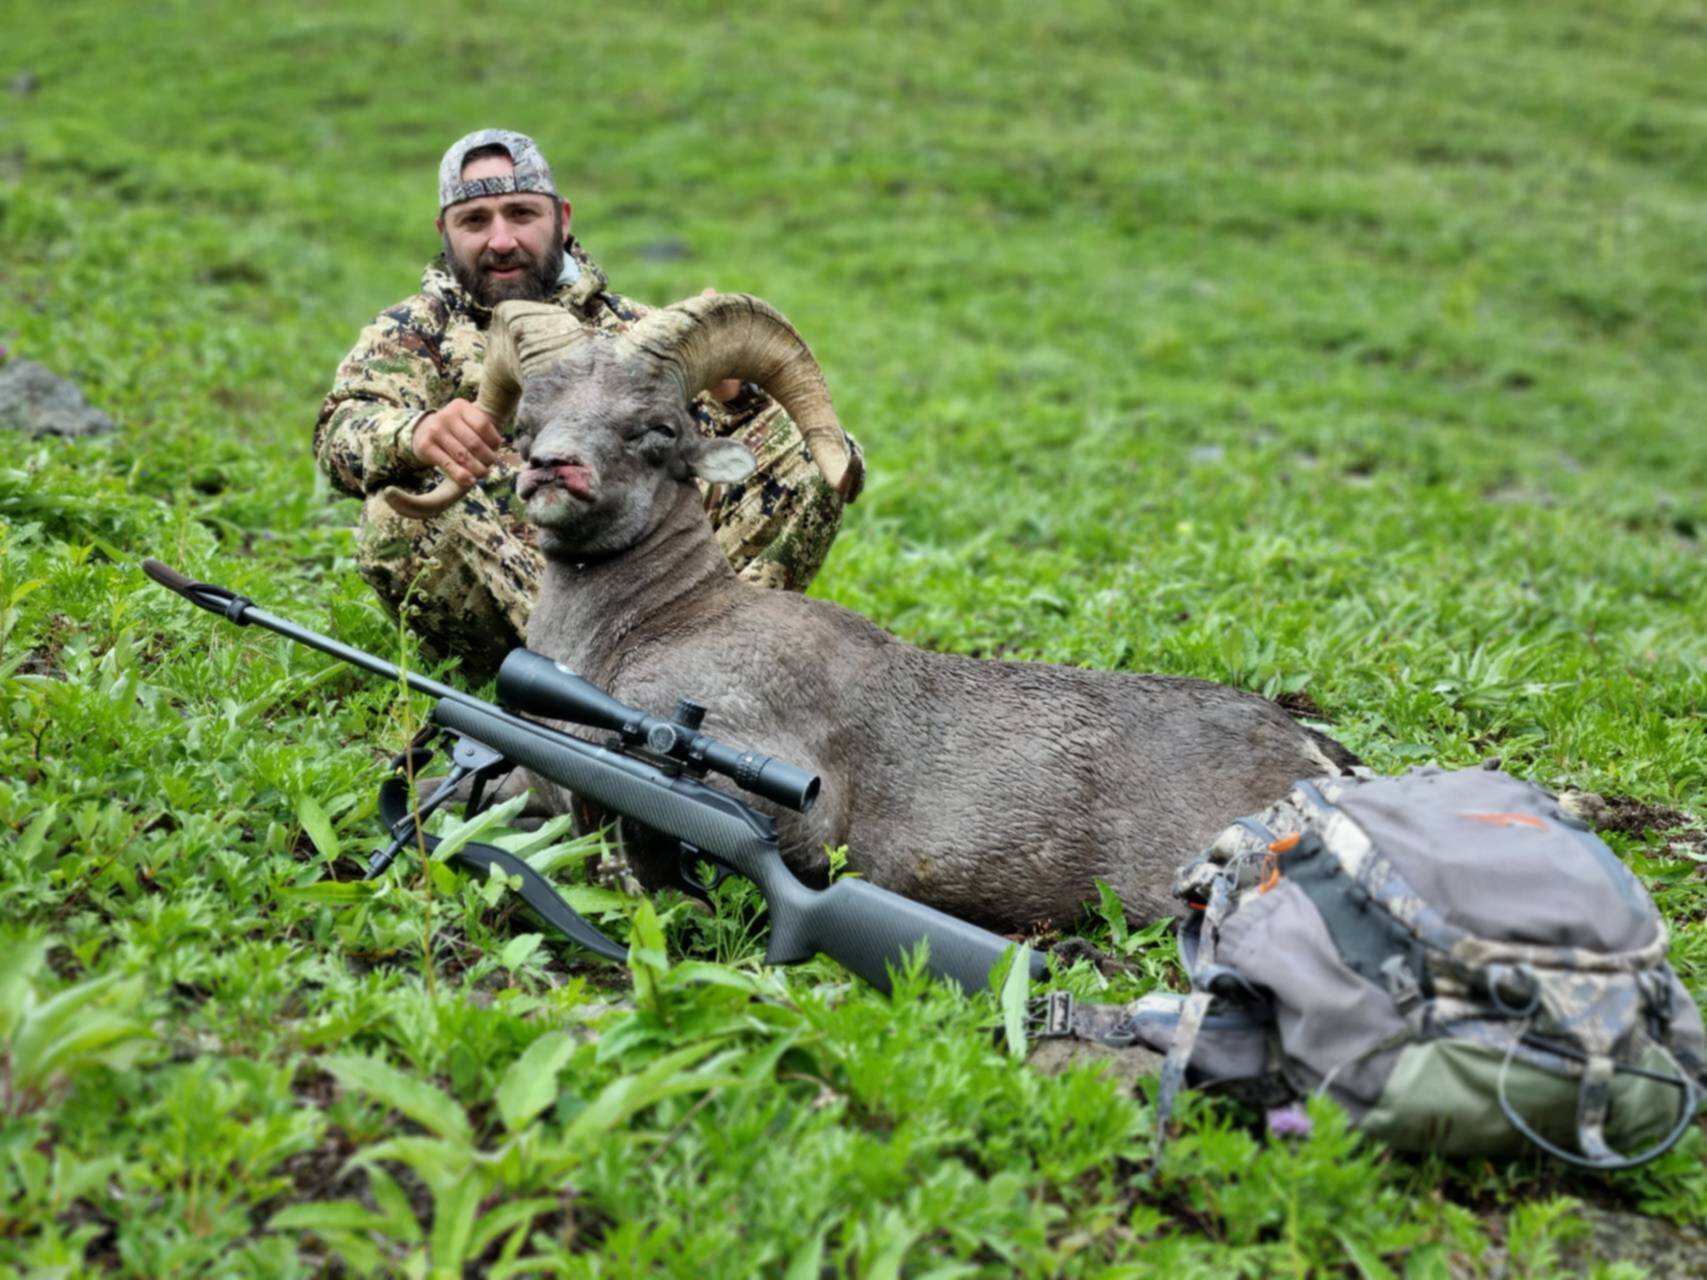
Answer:
[[(608, 730), (609, 737), (599, 746), (297, 626), (227, 587), (195, 582), (159, 560), (143, 560), (142, 567), (160, 585), (230, 623), (265, 626), (437, 700), (428, 717), (435, 730), (428, 732), (440, 746), (449, 746), (449, 775), (418, 806), (410, 804), (403, 777), (381, 787), (379, 812), (391, 841), (374, 853), (369, 879), (381, 876), (403, 848), (417, 841), (428, 850), (437, 845), (418, 823), (446, 804), (464, 780), (469, 782), (468, 812), (475, 814), (490, 783), (522, 766), (608, 812), (679, 841), (681, 879), (690, 893), (705, 896), (700, 874), (707, 865), (717, 879), (734, 872), (753, 881), (770, 915), (768, 964), (795, 964), (821, 951), (888, 992), (889, 966), (898, 966), (923, 940), (932, 973), (976, 992), (1011, 945), (997, 934), (860, 879), (840, 879), (826, 889), (801, 884), (782, 860), (770, 816), (703, 778), (719, 773), (743, 790), (799, 812), (818, 799), (818, 778), (787, 761), (739, 751), (700, 732), (703, 708), (686, 698), (664, 720), (618, 701), (548, 657), (527, 649), (510, 650), (498, 671), (498, 698), (516, 712)], [(417, 771), (430, 759), (428, 741), (427, 736), (418, 739), (394, 765)], [(468, 843), (454, 857), (475, 872), (497, 865), (505, 876), (521, 877), (522, 901), (534, 915), (597, 956), (626, 959), (626, 947), (584, 920), (550, 881), (516, 855)], [(1043, 957), (1034, 956), (1033, 976), (1041, 978), (1043, 969)]]

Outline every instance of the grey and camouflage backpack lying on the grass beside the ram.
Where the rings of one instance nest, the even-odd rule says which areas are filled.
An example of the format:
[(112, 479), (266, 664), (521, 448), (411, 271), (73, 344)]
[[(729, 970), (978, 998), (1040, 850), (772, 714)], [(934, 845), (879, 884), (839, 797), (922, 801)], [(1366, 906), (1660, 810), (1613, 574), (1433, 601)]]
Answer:
[[(1640, 882), (1540, 787), (1492, 770), (1301, 782), (1174, 891), (1190, 995), (1050, 997), (1045, 1034), (1166, 1051), (1181, 1084), (1326, 1092), (1393, 1147), (1620, 1169), (1668, 1150), (1707, 1041)], [(1635, 1152), (1635, 1154), (1628, 1154)]]

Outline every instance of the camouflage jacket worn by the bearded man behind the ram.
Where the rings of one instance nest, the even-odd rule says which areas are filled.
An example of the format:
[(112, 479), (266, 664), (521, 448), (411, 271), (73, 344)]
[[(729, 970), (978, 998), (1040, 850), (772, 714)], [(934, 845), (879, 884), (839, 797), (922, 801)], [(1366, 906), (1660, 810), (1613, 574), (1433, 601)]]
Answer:
[[(565, 261), (579, 275), (562, 283), (551, 302), (615, 333), (650, 311), (611, 292), (604, 271), (574, 237), (567, 249)], [(314, 457), (333, 488), (360, 498), (386, 485), (432, 486), (439, 473), (423, 468), (410, 447), (415, 425), (456, 398), (476, 398), (490, 323), (490, 307), (475, 302), (439, 256), (422, 273), (420, 294), (387, 307), (362, 329), (314, 423)], [(748, 386), (727, 404), (700, 396), (695, 413), (707, 433), (729, 435), (772, 403)], [(505, 437), (512, 432), (509, 423), (502, 430)], [(498, 463), (481, 485), (502, 483), (509, 474)]]

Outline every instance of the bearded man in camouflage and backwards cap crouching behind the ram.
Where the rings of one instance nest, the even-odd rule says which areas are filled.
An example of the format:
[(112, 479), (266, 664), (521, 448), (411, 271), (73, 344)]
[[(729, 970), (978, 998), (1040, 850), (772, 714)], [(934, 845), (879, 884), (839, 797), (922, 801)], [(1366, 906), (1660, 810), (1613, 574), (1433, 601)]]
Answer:
[[(362, 577), (405, 613), (430, 657), (461, 657), (475, 679), (522, 642), (541, 556), (522, 521), (502, 456), (510, 425), (492, 422), (480, 393), (492, 307), (550, 300), (592, 329), (620, 333), (647, 307), (611, 292), (568, 234), (570, 205), (531, 138), (480, 130), (439, 166), (444, 254), (422, 292), (384, 311), (338, 365), (314, 425), (314, 457), (335, 488), (364, 498), (357, 534)], [(707, 498), (717, 541), (741, 577), (804, 591), (842, 522), (789, 416), (751, 384), (724, 382), (695, 416), (760, 459), (741, 485)], [(862, 466), (850, 439), (854, 466)], [(430, 488), (440, 476), (476, 486), (444, 515), (408, 521), (379, 493)]]

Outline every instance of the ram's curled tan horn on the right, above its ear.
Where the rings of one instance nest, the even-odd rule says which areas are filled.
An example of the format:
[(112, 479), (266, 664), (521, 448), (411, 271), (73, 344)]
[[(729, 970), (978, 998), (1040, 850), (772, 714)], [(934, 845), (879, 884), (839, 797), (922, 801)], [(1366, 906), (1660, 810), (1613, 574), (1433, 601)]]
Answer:
[(813, 348), (780, 311), (751, 294), (715, 294), (654, 311), (623, 335), (623, 343), (681, 374), (695, 396), (739, 377), (782, 404), (813, 461), (845, 502), (859, 497), (864, 469), (830, 404), (830, 387)]

